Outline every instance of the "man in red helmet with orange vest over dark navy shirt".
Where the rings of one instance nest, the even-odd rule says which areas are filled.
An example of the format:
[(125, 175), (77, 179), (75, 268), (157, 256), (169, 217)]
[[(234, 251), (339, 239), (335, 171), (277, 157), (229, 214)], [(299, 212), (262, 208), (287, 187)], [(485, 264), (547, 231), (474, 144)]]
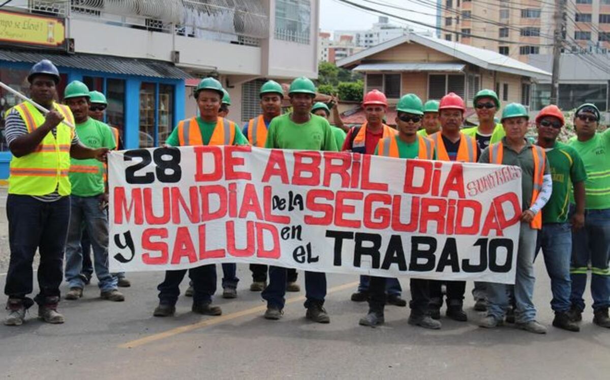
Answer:
[[(439, 104), (440, 132), (434, 133), (430, 138), (434, 141), (436, 159), (442, 161), (461, 161), (476, 163), (481, 151), (473, 137), (461, 133), (460, 127), (464, 123), (466, 107), (464, 100), (453, 92), (445, 95)], [(447, 289), (447, 316), (456, 321), (467, 321), (464, 312), (464, 281), (445, 281)], [(432, 318), (440, 318), (440, 307), (443, 305), (443, 281), (430, 282), (430, 314)]]

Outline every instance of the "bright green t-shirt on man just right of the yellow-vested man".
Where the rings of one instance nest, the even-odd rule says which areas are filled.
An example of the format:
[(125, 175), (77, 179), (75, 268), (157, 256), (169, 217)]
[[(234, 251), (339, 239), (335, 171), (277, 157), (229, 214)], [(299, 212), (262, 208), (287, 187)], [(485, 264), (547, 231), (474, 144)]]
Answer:
[[(90, 148), (117, 147), (110, 127), (89, 117), (86, 122), (76, 125), (76, 134), (82, 144)], [(94, 197), (104, 192), (104, 164), (95, 158), (70, 159), (70, 183), (72, 194), (79, 197)]]

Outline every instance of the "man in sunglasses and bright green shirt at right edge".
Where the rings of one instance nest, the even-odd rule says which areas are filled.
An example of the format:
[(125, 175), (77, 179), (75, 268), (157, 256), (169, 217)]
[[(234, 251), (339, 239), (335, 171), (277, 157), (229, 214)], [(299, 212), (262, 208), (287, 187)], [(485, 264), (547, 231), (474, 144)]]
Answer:
[(574, 114), (576, 136), (568, 142), (580, 154), (587, 172), (584, 228), (572, 235), (570, 315), (573, 321), (583, 319), (590, 262), (593, 323), (610, 328), (610, 128), (597, 133), (599, 122), (600, 111), (595, 104), (581, 105)]

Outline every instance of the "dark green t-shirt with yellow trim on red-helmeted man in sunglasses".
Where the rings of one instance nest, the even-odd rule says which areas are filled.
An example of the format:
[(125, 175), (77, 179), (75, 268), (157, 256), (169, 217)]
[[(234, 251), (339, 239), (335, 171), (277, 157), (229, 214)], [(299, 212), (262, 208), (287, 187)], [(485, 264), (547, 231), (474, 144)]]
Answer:
[(576, 150), (561, 142), (547, 150), (547, 159), (553, 177), (553, 193), (542, 208), (542, 222), (565, 223), (568, 219), (572, 184), (586, 180), (587, 173)]

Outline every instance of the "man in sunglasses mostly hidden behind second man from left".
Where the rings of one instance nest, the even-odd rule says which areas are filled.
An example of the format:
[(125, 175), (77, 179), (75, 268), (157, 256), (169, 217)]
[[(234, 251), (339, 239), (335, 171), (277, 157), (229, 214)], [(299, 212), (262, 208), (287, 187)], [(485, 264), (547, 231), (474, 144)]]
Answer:
[[(106, 97), (103, 93), (99, 91), (90, 91), (89, 92), (89, 117), (98, 120), (99, 122), (104, 122), (104, 113), (106, 113), (106, 108), (108, 106), (108, 102), (106, 101)], [(106, 124), (108, 125), (108, 124)], [(113, 127), (112, 125), (108, 125), (110, 130), (112, 131), (112, 136), (114, 137), (115, 143), (117, 147), (115, 150), (123, 150), (123, 141), (121, 140), (120, 133), (118, 128)], [(104, 181), (106, 181), (106, 172), (104, 172)], [(85, 285), (89, 285), (91, 282), (91, 276), (93, 276), (93, 262), (91, 261), (91, 241), (89, 239), (89, 235), (87, 234), (87, 229), (83, 228), (82, 230), (82, 239), (81, 239), (81, 248), (82, 248), (82, 271), (81, 276), (84, 279)], [(118, 279), (117, 286), (119, 288), (129, 288), (131, 287), (131, 282), (125, 277), (124, 272), (113, 273), (112, 276), (116, 276)]]

